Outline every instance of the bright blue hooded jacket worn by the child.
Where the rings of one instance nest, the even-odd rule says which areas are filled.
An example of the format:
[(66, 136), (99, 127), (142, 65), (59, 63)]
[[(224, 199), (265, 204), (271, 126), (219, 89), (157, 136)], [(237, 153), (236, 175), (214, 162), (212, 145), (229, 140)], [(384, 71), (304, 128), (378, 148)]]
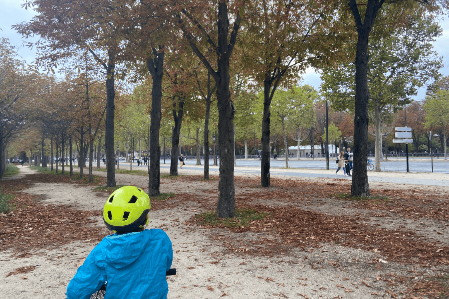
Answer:
[(160, 229), (105, 237), (67, 286), (67, 299), (89, 299), (107, 281), (105, 299), (166, 299), (172, 242)]

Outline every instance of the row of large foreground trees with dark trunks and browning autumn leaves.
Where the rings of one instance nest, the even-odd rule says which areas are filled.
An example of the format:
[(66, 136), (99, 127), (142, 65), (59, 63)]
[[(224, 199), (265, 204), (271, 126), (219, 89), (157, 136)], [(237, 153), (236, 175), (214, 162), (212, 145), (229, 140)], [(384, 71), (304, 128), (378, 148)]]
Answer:
[[(369, 195), (364, 167), (370, 99), (368, 53), (372, 52), (368, 49), (368, 40), (387, 40), (397, 35), (397, 28), (401, 28), (399, 34), (405, 32), (405, 28), (416, 26), (425, 15), (435, 18), (447, 4), (447, 1), (384, 3), (383, 0), (368, 0), (363, 5), (355, 0), (349, 3), (27, 0), (25, 6), (33, 7), (37, 16), (15, 28), (24, 36), (39, 34), (42, 37), (36, 44), (39, 51), (36, 62), (48, 70), (68, 61), (79, 67), (84, 63), (81, 54), (86, 51), (103, 67), (109, 186), (115, 185), (116, 78), (123, 78), (130, 71), (134, 72), (136, 80), (151, 76), (151, 103), (147, 105), (150, 195), (159, 194), (163, 91), (171, 100), (174, 148), (179, 146), (182, 120), (187, 115), (191, 115), (192, 120), (195, 120), (194, 115), (206, 116), (204, 140), (208, 143), (210, 107), (215, 93), (221, 156), (217, 215), (232, 217), (235, 196), (233, 120), (238, 115), (235, 99), (244, 98), (251, 88), (263, 92), (261, 185), (267, 187), (270, 185), (270, 109), (276, 89), (290, 88), (297, 81), (298, 73), (309, 66), (324, 68), (355, 60), (354, 97), (353, 100), (347, 98), (354, 103), (355, 120), (352, 194)], [(235, 55), (231, 55), (234, 52)], [(119, 70), (120, 64), (125, 66), (124, 71)], [(235, 123), (245, 121), (244, 113), (238, 115)], [(171, 171), (171, 174), (177, 173)]]

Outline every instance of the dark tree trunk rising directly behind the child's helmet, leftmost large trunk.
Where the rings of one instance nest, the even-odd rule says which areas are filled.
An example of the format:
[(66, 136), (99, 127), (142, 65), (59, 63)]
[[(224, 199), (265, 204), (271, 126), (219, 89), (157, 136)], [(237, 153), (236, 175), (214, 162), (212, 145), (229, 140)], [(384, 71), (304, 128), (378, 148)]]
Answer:
[(115, 110), (115, 55), (108, 51), (106, 77), (106, 118), (104, 151), (106, 153), (106, 186), (115, 187), (114, 110)]

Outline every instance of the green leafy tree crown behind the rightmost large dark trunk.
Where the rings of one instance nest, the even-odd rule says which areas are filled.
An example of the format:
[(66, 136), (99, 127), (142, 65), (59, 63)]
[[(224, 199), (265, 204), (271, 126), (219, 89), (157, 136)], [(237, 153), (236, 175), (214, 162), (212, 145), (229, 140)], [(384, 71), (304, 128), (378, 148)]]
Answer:
[[(402, 109), (426, 82), (438, 78), (442, 59), (433, 51), (432, 42), (441, 35), (435, 16), (410, 18), (407, 28), (396, 28), (389, 37), (369, 44), (368, 86), (373, 109), (392, 106)], [(325, 68), (321, 89), (331, 108), (355, 108), (355, 65), (340, 64)]]

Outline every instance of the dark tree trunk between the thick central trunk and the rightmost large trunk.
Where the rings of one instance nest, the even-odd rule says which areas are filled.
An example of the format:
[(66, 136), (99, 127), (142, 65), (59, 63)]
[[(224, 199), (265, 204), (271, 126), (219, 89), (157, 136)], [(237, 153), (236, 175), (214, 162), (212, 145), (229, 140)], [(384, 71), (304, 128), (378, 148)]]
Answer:
[[(270, 75), (265, 74), (263, 80), (263, 116), (262, 116), (262, 139), (260, 141), (262, 146), (262, 160), (260, 164), (260, 184), (262, 187), (270, 186)], [(254, 147), (256, 145), (254, 144)]]

